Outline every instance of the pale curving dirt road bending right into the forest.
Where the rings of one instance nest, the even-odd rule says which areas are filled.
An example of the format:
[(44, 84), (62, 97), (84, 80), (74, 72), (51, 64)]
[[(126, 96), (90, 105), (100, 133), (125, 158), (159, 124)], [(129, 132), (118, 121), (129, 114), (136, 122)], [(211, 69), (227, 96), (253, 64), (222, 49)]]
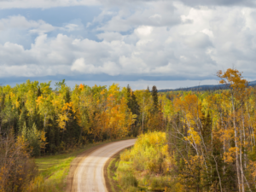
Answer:
[[(104, 179), (104, 165), (114, 154), (128, 148), (136, 139), (109, 143), (79, 157), (73, 172), (72, 192), (107, 192)], [(70, 190), (69, 190), (70, 191)]]

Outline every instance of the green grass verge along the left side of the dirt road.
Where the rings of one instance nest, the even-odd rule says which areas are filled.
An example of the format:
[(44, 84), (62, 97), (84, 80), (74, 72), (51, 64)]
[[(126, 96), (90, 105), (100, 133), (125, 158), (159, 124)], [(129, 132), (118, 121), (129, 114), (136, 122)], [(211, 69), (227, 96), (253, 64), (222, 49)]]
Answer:
[(36, 158), (35, 162), (38, 166), (38, 176), (30, 183), (26, 191), (29, 192), (62, 192), (66, 187), (66, 178), (69, 172), (71, 162), (85, 150), (104, 143), (130, 139), (123, 138), (118, 140), (108, 140), (102, 143), (90, 143), (82, 148), (74, 149), (67, 154), (55, 154)]

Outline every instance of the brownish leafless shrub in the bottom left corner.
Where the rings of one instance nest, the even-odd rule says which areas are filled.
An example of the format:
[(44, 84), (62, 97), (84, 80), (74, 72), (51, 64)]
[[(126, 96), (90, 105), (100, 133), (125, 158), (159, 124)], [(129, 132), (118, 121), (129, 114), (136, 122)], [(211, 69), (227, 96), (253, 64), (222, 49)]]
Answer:
[(0, 191), (25, 191), (36, 174), (26, 140), (15, 139), (13, 131), (7, 137), (0, 136)]

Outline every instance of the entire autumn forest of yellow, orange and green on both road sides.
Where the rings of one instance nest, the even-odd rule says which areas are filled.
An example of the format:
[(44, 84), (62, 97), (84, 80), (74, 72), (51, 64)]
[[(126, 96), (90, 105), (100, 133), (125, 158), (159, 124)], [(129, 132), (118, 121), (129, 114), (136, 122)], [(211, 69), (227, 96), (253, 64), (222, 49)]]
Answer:
[(152, 90), (26, 81), (0, 87), (0, 191), (27, 191), (32, 157), (122, 137), (126, 191), (256, 191), (256, 89), (236, 69), (224, 90)]

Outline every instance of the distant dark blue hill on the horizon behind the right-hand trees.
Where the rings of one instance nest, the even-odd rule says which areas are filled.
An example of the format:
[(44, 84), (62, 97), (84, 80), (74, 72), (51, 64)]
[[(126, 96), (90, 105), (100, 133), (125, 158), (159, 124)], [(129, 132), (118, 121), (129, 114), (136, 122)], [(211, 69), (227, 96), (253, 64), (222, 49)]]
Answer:
[[(251, 81), (248, 85), (255, 86), (256, 81)], [(158, 92), (175, 91), (175, 90), (224, 90), (225, 87), (226, 87), (225, 84), (207, 84), (207, 85), (199, 85), (199, 86), (187, 87), (187, 88), (158, 90)]]

